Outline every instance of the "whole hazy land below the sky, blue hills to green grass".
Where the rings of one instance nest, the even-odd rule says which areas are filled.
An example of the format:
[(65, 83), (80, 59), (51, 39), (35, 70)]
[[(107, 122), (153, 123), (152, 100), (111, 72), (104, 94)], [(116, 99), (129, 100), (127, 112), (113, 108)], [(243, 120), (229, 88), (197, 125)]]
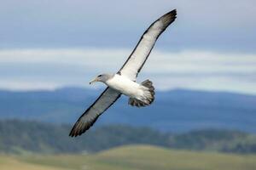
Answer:
[(97, 92), (1, 91), (0, 168), (256, 168), (253, 95), (159, 92), (156, 105), (143, 112), (121, 99), (88, 133), (68, 137), (83, 105), (89, 105)]

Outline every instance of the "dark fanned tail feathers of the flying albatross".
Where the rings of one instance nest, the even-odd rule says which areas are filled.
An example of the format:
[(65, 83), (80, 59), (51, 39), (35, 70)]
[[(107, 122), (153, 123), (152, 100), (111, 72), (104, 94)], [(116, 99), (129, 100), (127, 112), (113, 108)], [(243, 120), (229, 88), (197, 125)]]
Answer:
[(129, 105), (137, 106), (137, 107), (144, 107), (144, 106), (152, 104), (152, 102), (154, 101), (153, 83), (149, 80), (146, 80), (146, 81), (142, 82), (142, 86), (145, 87), (143, 99), (130, 98)]

